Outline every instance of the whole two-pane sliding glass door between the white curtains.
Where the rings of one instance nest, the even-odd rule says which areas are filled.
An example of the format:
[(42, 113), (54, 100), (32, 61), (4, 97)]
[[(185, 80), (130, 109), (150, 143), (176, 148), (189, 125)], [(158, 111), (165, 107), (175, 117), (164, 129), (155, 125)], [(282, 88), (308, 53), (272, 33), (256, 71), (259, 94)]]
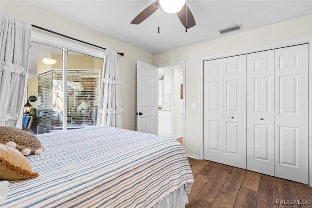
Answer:
[(96, 125), (103, 59), (32, 42), (30, 60), (27, 97), (38, 97), (31, 103), (35, 133)]

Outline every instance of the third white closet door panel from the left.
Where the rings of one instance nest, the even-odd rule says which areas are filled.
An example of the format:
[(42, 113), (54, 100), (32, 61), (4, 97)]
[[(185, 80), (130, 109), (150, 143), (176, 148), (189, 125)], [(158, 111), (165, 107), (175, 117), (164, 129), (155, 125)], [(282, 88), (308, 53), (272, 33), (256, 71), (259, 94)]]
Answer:
[(247, 169), (274, 175), (274, 50), (247, 55)]

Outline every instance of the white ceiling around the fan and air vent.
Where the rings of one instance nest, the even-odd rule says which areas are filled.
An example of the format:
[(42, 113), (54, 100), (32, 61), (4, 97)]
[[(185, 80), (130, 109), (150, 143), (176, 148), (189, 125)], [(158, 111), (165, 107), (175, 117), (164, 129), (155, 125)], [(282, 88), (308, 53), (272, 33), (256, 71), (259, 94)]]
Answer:
[(196, 25), (186, 33), (176, 14), (160, 9), (157, 33), (158, 12), (138, 25), (130, 24), (155, 0), (29, 1), (151, 53), (225, 36), (218, 30), (234, 24), (243, 29), (226, 35), (312, 14), (312, 0), (187, 0)]

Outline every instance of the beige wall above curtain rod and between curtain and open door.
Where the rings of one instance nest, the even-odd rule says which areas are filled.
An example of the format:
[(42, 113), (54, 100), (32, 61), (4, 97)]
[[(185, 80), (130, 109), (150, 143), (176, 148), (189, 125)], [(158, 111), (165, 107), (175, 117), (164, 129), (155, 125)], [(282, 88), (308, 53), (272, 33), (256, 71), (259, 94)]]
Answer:
[(124, 57), (119, 57), (120, 80), (122, 81), (121, 101), (124, 109), (122, 114), (123, 127), (136, 129), (137, 60), (152, 63), (153, 54), (74, 21), (62, 18), (25, 0), (1, 0), (0, 13), (78, 40), (125, 53)]

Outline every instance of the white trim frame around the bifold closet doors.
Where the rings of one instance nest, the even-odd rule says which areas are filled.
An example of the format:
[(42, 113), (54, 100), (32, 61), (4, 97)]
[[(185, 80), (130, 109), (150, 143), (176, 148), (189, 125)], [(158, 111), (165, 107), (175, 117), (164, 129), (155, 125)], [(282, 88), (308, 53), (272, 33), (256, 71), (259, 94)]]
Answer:
[(243, 55), (248, 53), (272, 50), (276, 48), (288, 47), (298, 44), (309, 43), (309, 185), (312, 187), (312, 36), (293, 39), (283, 42), (276, 42), (262, 46), (256, 46), (245, 50), (231, 51), (226, 53), (214, 54), (200, 58), (200, 139), (199, 139), (199, 159), (203, 159), (204, 154), (204, 62), (214, 59), (221, 59), (231, 56)]

